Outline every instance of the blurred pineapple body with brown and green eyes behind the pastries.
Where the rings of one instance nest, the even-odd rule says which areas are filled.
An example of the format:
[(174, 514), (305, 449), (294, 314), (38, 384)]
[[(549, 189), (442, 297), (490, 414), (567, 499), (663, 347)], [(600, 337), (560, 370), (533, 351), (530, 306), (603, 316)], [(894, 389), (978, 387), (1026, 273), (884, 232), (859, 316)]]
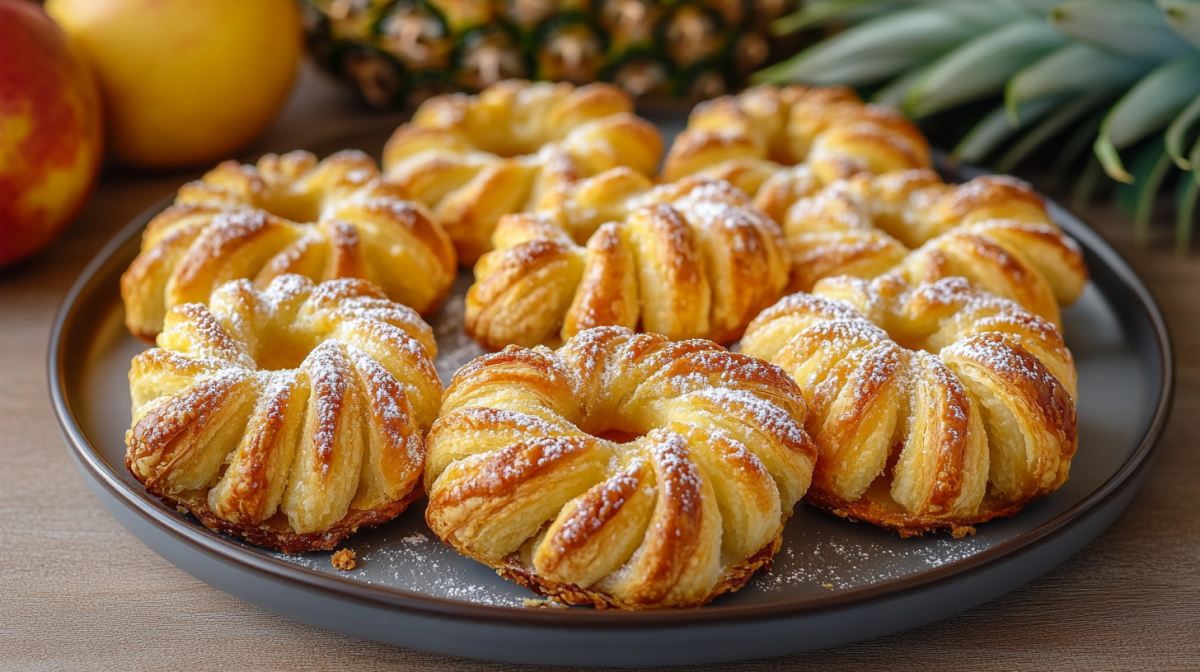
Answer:
[(302, 0), (312, 53), (376, 107), (506, 78), (707, 98), (784, 55), (799, 0)]

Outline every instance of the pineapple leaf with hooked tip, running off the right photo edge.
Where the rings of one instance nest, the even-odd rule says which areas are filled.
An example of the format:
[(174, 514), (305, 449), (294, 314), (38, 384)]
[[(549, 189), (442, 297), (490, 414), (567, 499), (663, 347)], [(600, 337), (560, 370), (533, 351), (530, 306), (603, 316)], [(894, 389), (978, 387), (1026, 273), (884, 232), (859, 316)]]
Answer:
[(1180, 56), (1158, 66), (1109, 110), (1096, 138), (1096, 156), (1115, 180), (1132, 182), (1117, 150), (1162, 128), (1200, 94), (1200, 54)]

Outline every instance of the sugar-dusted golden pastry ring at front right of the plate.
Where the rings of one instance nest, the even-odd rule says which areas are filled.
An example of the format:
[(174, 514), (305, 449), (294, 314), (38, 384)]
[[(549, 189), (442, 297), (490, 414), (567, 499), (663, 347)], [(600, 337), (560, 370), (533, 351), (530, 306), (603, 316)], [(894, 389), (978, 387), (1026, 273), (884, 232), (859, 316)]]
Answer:
[(961, 536), (1067, 480), (1070, 352), (964, 278), (826, 278), (763, 311), (742, 352), (799, 384), (820, 450), (808, 500), (840, 516)]

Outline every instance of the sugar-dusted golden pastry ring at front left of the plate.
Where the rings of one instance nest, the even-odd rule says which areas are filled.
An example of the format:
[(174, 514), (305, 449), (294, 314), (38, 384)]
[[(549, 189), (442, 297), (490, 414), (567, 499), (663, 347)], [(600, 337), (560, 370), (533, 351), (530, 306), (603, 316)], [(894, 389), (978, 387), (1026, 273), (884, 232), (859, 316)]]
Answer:
[(428, 325), (366, 281), (229, 282), (133, 358), (125, 463), (211, 529), (332, 548), (424, 493), (436, 355)]

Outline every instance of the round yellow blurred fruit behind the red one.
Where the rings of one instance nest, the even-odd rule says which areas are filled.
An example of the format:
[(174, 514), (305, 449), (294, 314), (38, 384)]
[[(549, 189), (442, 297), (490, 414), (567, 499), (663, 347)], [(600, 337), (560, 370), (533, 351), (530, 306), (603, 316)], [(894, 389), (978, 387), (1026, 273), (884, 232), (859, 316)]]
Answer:
[(287, 100), (304, 48), (294, 0), (48, 0), (90, 61), (108, 142), (163, 168), (227, 158)]

